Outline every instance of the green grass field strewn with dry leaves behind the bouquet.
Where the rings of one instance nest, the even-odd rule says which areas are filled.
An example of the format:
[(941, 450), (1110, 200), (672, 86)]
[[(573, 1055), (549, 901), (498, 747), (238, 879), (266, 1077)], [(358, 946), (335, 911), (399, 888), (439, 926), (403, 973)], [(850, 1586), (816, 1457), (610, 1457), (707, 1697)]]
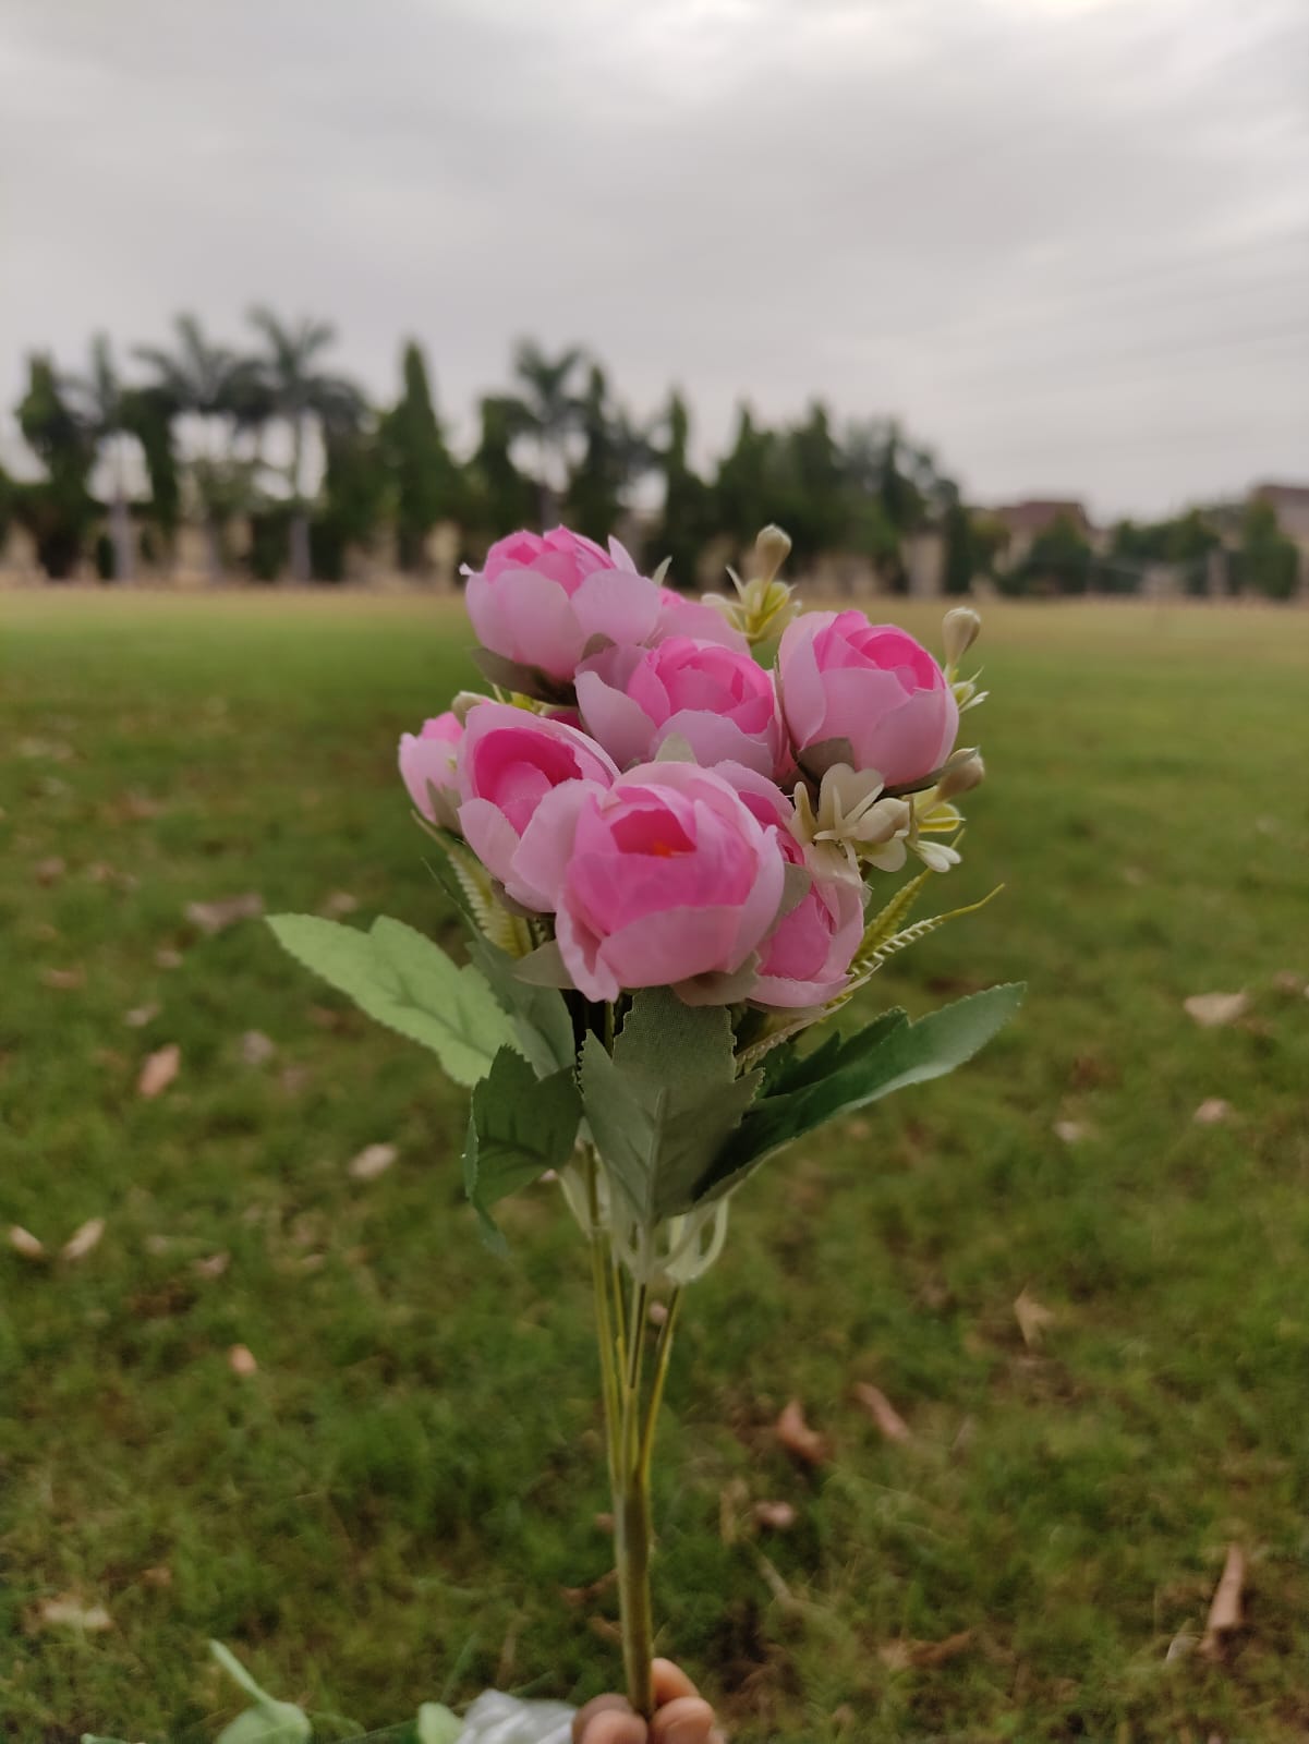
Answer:
[[(539, 1188), (492, 1259), (432, 1060), (258, 921), (185, 916), (349, 895), (450, 933), (394, 741), (469, 677), (462, 617), (49, 593), (0, 624), (0, 1231), (56, 1256), (0, 1249), (0, 1737), (211, 1739), (239, 1700), (209, 1636), (359, 1727), (488, 1681), (594, 1693), (572, 1223)], [(941, 905), (1007, 888), (873, 992), (1028, 1003), (739, 1200), (669, 1386), (662, 1645), (737, 1744), (1304, 1739), (1309, 616), (997, 607), (980, 652), (990, 781)], [(1213, 991), (1250, 1003), (1201, 1029)], [(354, 1179), (375, 1142), (396, 1163)], [(790, 1399), (817, 1470), (777, 1446)], [(1178, 1638), (1229, 1543), (1245, 1627), (1211, 1662)]]

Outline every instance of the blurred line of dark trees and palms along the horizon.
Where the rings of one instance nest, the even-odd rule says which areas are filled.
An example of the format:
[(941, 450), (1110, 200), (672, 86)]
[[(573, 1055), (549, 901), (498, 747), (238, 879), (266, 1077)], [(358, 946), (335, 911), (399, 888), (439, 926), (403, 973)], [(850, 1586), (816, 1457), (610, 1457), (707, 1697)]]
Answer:
[[(397, 398), (375, 406), (329, 366), (329, 323), (254, 307), (248, 330), (249, 344), (234, 347), (195, 316), (178, 316), (169, 344), (134, 345), (127, 370), (103, 335), (82, 370), (31, 354), (16, 415), (42, 476), (0, 471), (0, 541), (14, 521), (52, 579), (92, 558), (105, 579), (129, 581), (138, 553), (167, 569), (190, 520), (213, 579), (241, 565), (258, 579), (333, 581), (352, 549), (422, 574), (441, 523), (458, 527), (462, 555), (476, 560), (505, 532), (558, 518), (598, 539), (629, 532), (633, 504), (648, 502), (657, 508), (641, 516), (643, 542), (671, 556), (682, 586), (697, 584), (709, 546), (730, 560), (777, 520), (798, 565), (859, 558), (891, 591), (906, 586), (912, 535), (934, 530), (946, 593), (983, 576), (1013, 593), (1077, 593), (1131, 591), (1140, 560), (1182, 551), (1190, 562), (1220, 537), (1197, 511), (1154, 527), (1121, 523), (1110, 556), (1124, 562), (1096, 570), (1081, 530), (1056, 525), (1021, 563), (1006, 563), (1006, 528), (969, 508), (933, 450), (892, 419), (838, 429), (814, 401), (798, 422), (772, 429), (741, 405), (730, 446), (699, 471), (682, 392), (655, 417), (634, 419), (580, 345), (549, 354), (519, 342), (507, 391), (481, 398), (476, 439), (457, 453), (417, 342), (403, 347)], [(1250, 581), (1262, 586), (1276, 572), (1264, 591), (1278, 591), (1285, 541), (1276, 521), (1253, 532)]]

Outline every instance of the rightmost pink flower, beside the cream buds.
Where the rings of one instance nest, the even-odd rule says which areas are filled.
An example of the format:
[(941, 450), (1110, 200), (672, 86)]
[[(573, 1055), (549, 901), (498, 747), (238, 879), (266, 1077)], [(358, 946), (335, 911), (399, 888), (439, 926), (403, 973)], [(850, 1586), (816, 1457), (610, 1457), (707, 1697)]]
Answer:
[(939, 769), (959, 731), (953, 691), (927, 649), (863, 612), (797, 617), (777, 652), (777, 687), (802, 764), (810, 746), (847, 739), (854, 764), (887, 787)]

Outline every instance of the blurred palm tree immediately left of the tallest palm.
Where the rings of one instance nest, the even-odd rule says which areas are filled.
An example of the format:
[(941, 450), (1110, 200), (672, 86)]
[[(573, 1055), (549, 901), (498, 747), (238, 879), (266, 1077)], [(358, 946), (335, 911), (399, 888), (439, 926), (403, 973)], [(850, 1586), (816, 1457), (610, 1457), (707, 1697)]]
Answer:
[(190, 478), (204, 518), (209, 579), (216, 582), (223, 579), (223, 527), (241, 494), (232, 453), (234, 403), (241, 384), (249, 380), (251, 364), (230, 347), (211, 344), (195, 316), (178, 316), (173, 328), (176, 351), (138, 345), (136, 356), (153, 371), (152, 387), (173, 419), (190, 417), (200, 424), (200, 452), (192, 459)]

